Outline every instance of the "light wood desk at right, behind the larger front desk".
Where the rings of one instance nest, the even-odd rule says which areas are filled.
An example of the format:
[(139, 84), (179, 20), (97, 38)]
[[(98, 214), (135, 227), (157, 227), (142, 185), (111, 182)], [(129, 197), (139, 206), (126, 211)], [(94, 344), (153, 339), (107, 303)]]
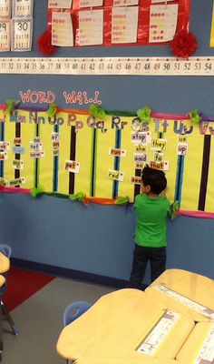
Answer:
[(214, 280), (182, 269), (168, 269), (145, 290), (162, 307), (194, 321), (214, 319)]

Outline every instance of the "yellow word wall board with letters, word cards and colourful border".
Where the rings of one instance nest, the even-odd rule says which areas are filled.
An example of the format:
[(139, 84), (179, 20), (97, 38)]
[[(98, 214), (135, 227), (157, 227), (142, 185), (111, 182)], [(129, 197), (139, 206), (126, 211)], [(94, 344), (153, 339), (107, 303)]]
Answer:
[(182, 211), (214, 217), (214, 117), (139, 111), (0, 106), (2, 186), (133, 202), (147, 163), (165, 171)]

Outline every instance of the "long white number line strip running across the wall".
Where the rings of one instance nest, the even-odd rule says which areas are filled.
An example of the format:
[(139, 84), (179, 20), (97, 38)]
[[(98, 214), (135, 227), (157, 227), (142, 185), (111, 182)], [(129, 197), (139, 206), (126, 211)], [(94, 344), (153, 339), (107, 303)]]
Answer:
[(214, 57), (1, 57), (0, 74), (214, 76)]

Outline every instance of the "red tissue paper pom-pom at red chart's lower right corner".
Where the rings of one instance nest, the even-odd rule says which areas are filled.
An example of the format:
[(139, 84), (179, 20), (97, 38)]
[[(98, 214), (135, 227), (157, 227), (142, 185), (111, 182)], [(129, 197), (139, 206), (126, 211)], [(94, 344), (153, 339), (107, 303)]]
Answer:
[(186, 30), (181, 30), (176, 33), (174, 39), (170, 42), (171, 52), (178, 57), (188, 58), (198, 48), (198, 43), (193, 33), (187, 33)]

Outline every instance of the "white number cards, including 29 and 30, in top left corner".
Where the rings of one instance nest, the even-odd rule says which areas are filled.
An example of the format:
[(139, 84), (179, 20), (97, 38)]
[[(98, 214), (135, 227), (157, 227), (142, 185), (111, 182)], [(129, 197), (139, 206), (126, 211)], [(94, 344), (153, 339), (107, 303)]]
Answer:
[(0, 0), (0, 52), (30, 51), (34, 0)]

